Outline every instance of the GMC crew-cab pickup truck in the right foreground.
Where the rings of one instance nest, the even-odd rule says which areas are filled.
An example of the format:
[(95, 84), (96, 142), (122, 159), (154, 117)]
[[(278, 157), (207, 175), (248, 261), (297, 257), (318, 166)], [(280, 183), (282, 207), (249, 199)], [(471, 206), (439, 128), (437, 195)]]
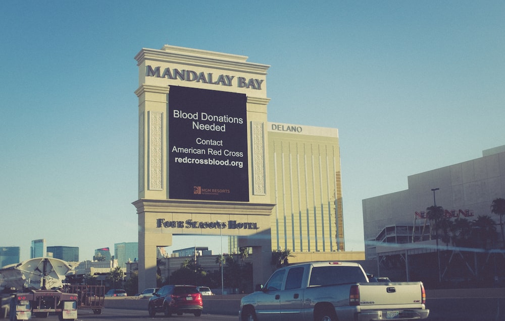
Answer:
[(242, 298), (239, 321), (424, 319), (425, 300), (423, 283), (369, 283), (357, 263), (295, 264)]

